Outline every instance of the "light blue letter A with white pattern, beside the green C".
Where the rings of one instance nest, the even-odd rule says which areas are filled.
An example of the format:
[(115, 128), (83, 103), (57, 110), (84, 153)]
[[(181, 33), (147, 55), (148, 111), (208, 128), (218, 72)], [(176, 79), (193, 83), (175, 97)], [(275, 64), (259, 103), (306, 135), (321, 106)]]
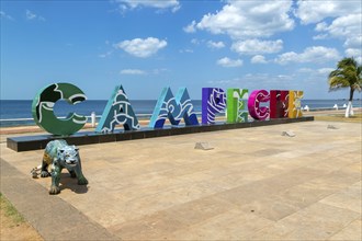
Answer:
[(123, 125), (125, 130), (139, 129), (137, 116), (122, 85), (114, 89), (102, 117), (95, 128), (97, 133), (113, 133), (116, 125)]

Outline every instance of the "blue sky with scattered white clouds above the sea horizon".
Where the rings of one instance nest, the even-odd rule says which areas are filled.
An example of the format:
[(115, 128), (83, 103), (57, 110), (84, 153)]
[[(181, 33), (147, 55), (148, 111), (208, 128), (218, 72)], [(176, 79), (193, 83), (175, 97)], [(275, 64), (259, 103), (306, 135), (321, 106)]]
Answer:
[[(342, 57), (362, 61), (362, 3), (244, 0), (1, 0), (1, 99), (70, 82), (89, 100), (122, 84), (131, 100), (163, 87), (328, 92)], [(355, 97), (361, 95), (355, 94)]]

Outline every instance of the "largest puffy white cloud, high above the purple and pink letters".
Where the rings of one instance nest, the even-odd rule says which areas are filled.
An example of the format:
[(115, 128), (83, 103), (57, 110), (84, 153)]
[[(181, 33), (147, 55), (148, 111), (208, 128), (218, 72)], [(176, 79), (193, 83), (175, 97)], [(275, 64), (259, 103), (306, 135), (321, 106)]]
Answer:
[(227, 2), (220, 11), (205, 14), (199, 23), (193, 21), (188, 30), (206, 30), (213, 34), (227, 34), (233, 39), (247, 39), (294, 28), (294, 20), (290, 16), (292, 0)]

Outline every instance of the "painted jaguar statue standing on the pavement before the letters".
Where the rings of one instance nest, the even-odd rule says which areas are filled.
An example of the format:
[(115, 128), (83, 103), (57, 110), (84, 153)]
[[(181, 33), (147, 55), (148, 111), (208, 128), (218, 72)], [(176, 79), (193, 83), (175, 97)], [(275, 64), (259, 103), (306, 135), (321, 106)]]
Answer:
[[(41, 170), (41, 176), (52, 175), (52, 185), (49, 194), (60, 193), (59, 181), (63, 169), (67, 169), (71, 177), (78, 179), (78, 185), (87, 185), (88, 181), (81, 171), (79, 149), (76, 146), (69, 146), (65, 140), (49, 141), (44, 151), (42, 165), (32, 170), (33, 177), (37, 177), (37, 171)], [(48, 171), (49, 165), (52, 171)]]

